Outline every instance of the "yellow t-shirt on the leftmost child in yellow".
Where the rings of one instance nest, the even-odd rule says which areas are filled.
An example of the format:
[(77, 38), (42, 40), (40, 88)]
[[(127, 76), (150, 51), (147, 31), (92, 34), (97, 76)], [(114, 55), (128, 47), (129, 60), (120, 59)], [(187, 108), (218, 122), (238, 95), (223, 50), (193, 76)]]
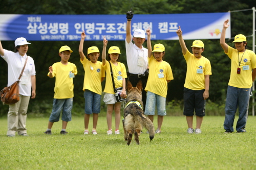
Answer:
[[(69, 99), (74, 97), (73, 78), (70, 78), (70, 73), (77, 75), (76, 65), (68, 62), (67, 65), (61, 62), (52, 65), (52, 75), (55, 77), (54, 99)], [(50, 72), (48, 72), (49, 76)]]

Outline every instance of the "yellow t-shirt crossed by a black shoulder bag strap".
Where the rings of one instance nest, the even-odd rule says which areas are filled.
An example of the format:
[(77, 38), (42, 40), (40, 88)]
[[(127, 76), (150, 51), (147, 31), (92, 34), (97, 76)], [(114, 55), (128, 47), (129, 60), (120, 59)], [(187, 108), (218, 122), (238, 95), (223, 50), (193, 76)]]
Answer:
[(113, 89), (112, 77), (110, 73), (110, 63), (113, 71), (115, 88), (123, 86), (123, 78), (127, 78), (127, 74), (125, 65), (123, 63), (117, 62), (117, 65), (115, 65), (111, 61), (106, 61), (106, 64), (103, 66), (103, 68), (106, 70), (106, 84), (104, 92), (115, 94)]

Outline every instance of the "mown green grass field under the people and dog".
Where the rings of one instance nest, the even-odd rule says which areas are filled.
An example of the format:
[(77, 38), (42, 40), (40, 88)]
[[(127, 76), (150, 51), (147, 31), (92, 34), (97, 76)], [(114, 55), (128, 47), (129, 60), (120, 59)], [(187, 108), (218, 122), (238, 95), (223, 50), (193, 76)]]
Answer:
[(140, 145), (127, 146), (121, 126), (120, 135), (106, 135), (105, 117), (98, 135), (83, 135), (83, 117), (73, 117), (67, 135), (59, 134), (61, 122), (45, 135), (48, 118), (28, 116), (29, 137), (7, 137), (7, 118), (1, 118), (0, 169), (256, 169), (256, 117), (249, 116), (246, 133), (224, 134), (223, 122), (223, 116), (205, 116), (202, 134), (187, 134), (185, 117), (165, 116), (151, 142), (143, 133)]

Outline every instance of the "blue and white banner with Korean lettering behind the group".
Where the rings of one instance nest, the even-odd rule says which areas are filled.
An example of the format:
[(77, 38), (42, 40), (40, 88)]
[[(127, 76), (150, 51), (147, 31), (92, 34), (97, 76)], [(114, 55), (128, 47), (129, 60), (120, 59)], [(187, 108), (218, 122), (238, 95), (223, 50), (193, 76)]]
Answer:
[[(0, 14), (0, 39), (28, 41), (77, 41), (86, 32), (86, 40), (125, 40), (126, 15), (19, 15)], [(135, 14), (136, 29), (152, 30), (152, 40), (177, 40), (181, 27), (184, 39), (219, 39), (223, 22), (230, 13)], [(230, 27), (226, 38), (230, 38)]]

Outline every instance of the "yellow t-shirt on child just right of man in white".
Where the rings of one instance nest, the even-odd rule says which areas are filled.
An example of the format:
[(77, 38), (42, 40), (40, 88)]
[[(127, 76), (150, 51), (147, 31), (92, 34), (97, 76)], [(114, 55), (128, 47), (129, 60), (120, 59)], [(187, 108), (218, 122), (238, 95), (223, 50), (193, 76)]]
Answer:
[[(148, 75), (145, 91), (150, 91), (166, 98), (167, 81), (173, 80), (173, 71), (166, 61), (158, 62), (152, 55), (148, 57), (150, 73)], [(161, 73), (161, 75), (159, 75)]]

